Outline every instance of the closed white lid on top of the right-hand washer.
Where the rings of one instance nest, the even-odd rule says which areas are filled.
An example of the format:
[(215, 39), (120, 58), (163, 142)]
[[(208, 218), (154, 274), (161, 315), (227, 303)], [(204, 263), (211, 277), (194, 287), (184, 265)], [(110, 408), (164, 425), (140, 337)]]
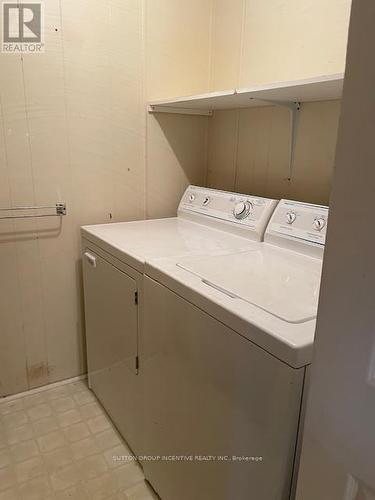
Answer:
[(177, 266), (289, 323), (316, 317), (320, 259), (264, 245), (262, 250), (185, 259)]

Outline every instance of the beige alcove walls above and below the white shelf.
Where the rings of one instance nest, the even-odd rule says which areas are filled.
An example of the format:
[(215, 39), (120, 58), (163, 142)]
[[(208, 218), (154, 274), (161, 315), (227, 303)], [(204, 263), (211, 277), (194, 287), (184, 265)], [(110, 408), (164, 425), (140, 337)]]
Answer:
[[(149, 99), (344, 70), (351, 0), (167, 4), (147, 4)], [(327, 204), (339, 113), (338, 102), (303, 105), (291, 182), (285, 109), (148, 115), (147, 216), (173, 215), (186, 184), (205, 179), (221, 189)]]

